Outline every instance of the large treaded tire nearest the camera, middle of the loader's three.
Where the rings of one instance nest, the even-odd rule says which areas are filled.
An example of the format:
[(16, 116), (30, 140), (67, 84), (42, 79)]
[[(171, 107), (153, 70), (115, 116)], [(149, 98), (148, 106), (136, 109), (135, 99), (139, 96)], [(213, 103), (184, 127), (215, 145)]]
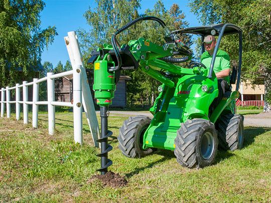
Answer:
[[(212, 142), (205, 144), (206, 136)], [(174, 143), (174, 154), (177, 162), (182, 166), (201, 168), (211, 165), (215, 160), (218, 145), (217, 133), (214, 125), (208, 120), (196, 118), (182, 123)], [(205, 147), (208, 148), (208, 156), (204, 156)]]

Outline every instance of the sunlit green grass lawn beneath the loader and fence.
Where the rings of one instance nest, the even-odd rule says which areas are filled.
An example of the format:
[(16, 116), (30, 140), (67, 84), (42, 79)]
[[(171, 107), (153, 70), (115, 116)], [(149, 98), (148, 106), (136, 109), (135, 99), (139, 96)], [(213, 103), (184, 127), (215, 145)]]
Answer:
[(0, 202), (271, 201), (270, 128), (246, 127), (242, 150), (219, 151), (215, 164), (197, 170), (180, 166), (167, 150), (142, 159), (123, 156), (116, 137), (127, 117), (109, 116), (109, 170), (128, 180), (125, 187), (111, 188), (90, 181), (100, 160), (85, 118), (80, 146), (73, 142), (72, 113), (57, 113), (53, 136), (46, 116), (39, 117), (38, 129), (14, 117), (0, 119)]

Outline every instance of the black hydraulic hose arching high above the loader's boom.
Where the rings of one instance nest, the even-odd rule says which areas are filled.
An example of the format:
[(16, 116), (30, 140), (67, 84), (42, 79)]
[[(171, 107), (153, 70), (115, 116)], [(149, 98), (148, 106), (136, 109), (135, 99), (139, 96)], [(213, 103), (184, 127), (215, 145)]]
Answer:
[(116, 71), (118, 70), (121, 65), (122, 65), (122, 61), (121, 61), (121, 57), (120, 57), (120, 53), (118, 50), (118, 46), (116, 43), (116, 35), (118, 35), (119, 33), (123, 32), (124, 30), (128, 29), (129, 27), (131, 27), (132, 25), (134, 25), (135, 23), (139, 22), (139, 21), (156, 21), (158, 22), (163, 28), (166, 27), (166, 24), (164, 21), (162, 21), (161, 19), (154, 17), (154, 16), (145, 16), (145, 17), (140, 17), (138, 19), (135, 19), (131, 22), (129, 22), (128, 24), (126, 24), (125, 26), (123, 26), (122, 28), (118, 29), (114, 34), (112, 34), (111, 37), (111, 43), (112, 43), (112, 47), (114, 50), (114, 53), (116, 55), (116, 59), (117, 59), (117, 66), (115, 67), (110, 67), (109, 71)]

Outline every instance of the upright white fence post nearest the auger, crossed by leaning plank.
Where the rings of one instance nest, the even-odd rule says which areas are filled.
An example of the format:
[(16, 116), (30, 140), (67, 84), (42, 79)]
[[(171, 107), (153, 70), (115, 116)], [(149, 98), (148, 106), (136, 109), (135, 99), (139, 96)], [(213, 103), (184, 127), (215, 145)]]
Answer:
[(73, 130), (74, 141), (82, 145), (82, 86), (81, 86), (81, 70), (73, 69)]

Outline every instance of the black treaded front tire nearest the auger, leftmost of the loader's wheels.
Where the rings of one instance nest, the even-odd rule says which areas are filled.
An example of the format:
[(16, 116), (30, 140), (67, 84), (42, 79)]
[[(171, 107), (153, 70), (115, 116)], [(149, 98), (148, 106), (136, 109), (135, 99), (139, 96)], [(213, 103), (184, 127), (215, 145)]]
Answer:
[(129, 158), (141, 158), (154, 151), (143, 149), (143, 135), (151, 123), (148, 116), (129, 117), (119, 128), (118, 147)]

